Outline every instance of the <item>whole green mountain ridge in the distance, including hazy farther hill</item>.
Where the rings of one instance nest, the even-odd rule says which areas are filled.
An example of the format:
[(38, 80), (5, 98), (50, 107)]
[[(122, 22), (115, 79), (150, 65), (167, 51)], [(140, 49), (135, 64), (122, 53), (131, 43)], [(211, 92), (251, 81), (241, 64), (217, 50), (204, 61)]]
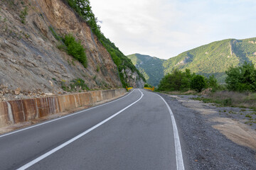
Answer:
[(169, 60), (139, 54), (127, 57), (144, 74), (146, 81), (154, 86), (159, 84), (164, 74), (170, 73), (175, 68), (191, 69), (191, 72), (203, 74), (206, 77), (214, 74), (218, 81), (223, 83), (226, 77), (225, 71), (230, 66), (238, 66), (245, 61), (256, 64), (256, 38), (211, 42), (182, 52)]

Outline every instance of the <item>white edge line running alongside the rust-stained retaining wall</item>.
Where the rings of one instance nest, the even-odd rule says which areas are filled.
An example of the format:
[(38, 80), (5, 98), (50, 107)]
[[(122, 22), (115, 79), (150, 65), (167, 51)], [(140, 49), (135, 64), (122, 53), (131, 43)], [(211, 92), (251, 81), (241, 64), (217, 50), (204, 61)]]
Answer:
[[(133, 91), (134, 91), (134, 90), (132, 90), (132, 92), (133, 92)], [(122, 98), (125, 98), (125, 97), (129, 96), (130, 94), (132, 94), (132, 92), (130, 92), (130, 93), (127, 94), (126, 96), (123, 96)], [(4, 135), (0, 135), (0, 138), (1, 138), (1, 137), (5, 137), (5, 136), (7, 136), (7, 135), (14, 134), (14, 133), (16, 133), (16, 132), (21, 132), (21, 131), (23, 131), (23, 130), (28, 130), (28, 129), (31, 129), (31, 128), (36, 128), (37, 126), (44, 125), (44, 124), (47, 124), (47, 123), (51, 123), (51, 122), (54, 122), (54, 121), (56, 121), (56, 120), (60, 120), (60, 119), (63, 119), (63, 118), (68, 118), (68, 117), (70, 117), (70, 116), (77, 115), (77, 114), (82, 113), (82, 112), (85, 112), (85, 111), (90, 111), (90, 110), (92, 110), (92, 109), (94, 109), (94, 108), (99, 108), (99, 107), (101, 107), (101, 106), (105, 106), (105, 105), (110, 104), (110, 103), (113, 103), (113, 102), (115, 102), (115, 101), (119, 101), (119, 100), (121, 100), (122, 98), (118, 98), (117, 100), (110, 101), (110, 102), (108, 102), (108, 103), (104, 103), (104, 104), (99, 105), (99, 106), (95, 106), (95, 107), (92, 107), (92, 108), (87, 108), (87, 109), (82, 110), (82, 111), (79, 111), (79, 112), (77, 112), (77, 113), (72, 113), (72, 114), (70, 114), (70, 115), (64, 115), (64, 116), (62, 116), (62, 117), (60, 117), (60, 118), (56, 118), (56, 119), (53, 119), (53, 120), (48, 120), (47, 122), (44, 122), (44, 123), (40, 123), (40, 124), (37, 124), (37, 125), (31, 125), (31, 126), (29, 126), (28, 128), (23, 128), (23, 129), (21, 129), (21, 130), (16, 130), (16, 131), (14, 131), (14, 132), (9, 132), (9, 133), (6, 133), (6, 134), (4, 134)]]

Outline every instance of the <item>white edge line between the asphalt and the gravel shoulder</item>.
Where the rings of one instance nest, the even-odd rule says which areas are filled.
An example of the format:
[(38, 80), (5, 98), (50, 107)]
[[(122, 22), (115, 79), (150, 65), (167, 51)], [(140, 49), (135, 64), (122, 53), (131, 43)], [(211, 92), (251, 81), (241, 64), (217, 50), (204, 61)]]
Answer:
[(164, 101), (164, 103), (166, 104), (166, 106), (169, 110), (169, 113), (171, 115), (171, 123), (172, 123), (173, 129), (174, 129), (174, 144), (175, 144), (175, 152), (176, 152), (176, 168), (177, 168), (177, 170), (184, 170), (185, 167), (184, 167), (183, 157), (182, 157), (182, 152), (181, 152), (181, 142), (180, 142), (179, 137), (178, 137), (178, 128), (177, 128), (176, 121), (175, 121), (175, 118), (174, 118), (174, 113), (171, 111), (170, 106), (168, 105), (168, 103), (166, 103), (164, 98), (162, 98), (159, 94), (156, 94), (156, 95), (158, 95)]

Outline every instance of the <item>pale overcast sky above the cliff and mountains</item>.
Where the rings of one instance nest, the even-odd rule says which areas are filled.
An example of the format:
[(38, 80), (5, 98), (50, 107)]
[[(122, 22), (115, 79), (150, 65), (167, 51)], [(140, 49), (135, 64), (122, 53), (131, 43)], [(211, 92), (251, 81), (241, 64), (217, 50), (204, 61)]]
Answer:
[(169, 59), (227, 38), (256, 37), (256, 0), (91, 0), (102, 33), (124, 55)]

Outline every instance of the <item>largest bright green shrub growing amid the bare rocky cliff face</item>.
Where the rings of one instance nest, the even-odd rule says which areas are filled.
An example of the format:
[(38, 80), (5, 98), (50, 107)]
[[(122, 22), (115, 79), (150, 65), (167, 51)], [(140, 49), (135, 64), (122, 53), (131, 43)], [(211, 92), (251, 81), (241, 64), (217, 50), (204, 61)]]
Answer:
[(67, 46), (68, 55), (72, 55), (84, 67), (87, 67), (87, 57), (85, 49), (80, 41), (76, 41), (72, 34), (65, 35), (64, 43)]

